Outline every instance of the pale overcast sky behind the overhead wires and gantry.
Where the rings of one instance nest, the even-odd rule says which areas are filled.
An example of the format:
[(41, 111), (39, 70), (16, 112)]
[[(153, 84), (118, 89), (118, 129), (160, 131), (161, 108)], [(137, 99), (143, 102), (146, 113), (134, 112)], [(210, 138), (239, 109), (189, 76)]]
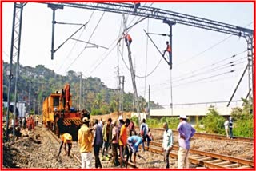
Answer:
[[(10, 38), (13, 18), (13, 3), (2, 3), (2, 58), (10, 60)], [(143, 6), (208, 18), (235, 26), (253, 29), (253, 3), (142, 3)], [(90, 18), (91, 17), (91, 18)], [(138, 17), (128, 17), (131, 26)], [(100, 20), (100, 18), (102, 18)], [(28, 3), (24, 7), (22, 21), (22, 42), (20, 63), (22, 66), (44, 65), (58, 74), (66, 75), (68, 70), (82, 72), (83, 78), (98, 77), (109, 88), (118, 87), (118, 64), (120, 75), (125, 76), (125, 92), (133, 92), (127, 49), (116, 46), (116, 39), (122, 34), (122, 14), (82, 10), (64, 7), (56, 11), (56, 21), (66, 23), (87, 23), (73, 38), (95, 43), (103, 48), (86, 48), (85, 43), (69, 40), (50, 59), (52, 10), (46, 4)], [(100, 22), (99, 22), (100, 21)], [(98, 26), (97, 26), (98, 24)], [(97, 26), (97, 27), (96, 27)], [(55, 25), (54, 49), (74, 34), (80, 26)], [(95, 29), (96, 27), (96, 29)], [(162, 58), (143, 29), (150, 33), (169, 34), (170, 28), (160, 20), (146, 19), (132, 27), (130, 35), (132, 58), (138, 76), (150, 74)], [(162, 51), (168, 37), (150, 35)], [(210, 30), (177, 24), (173, 26), (173, 103), (194, 103), (206, 101), (229, 101), (242, 71), (246, 67), (246, 40)], [(120, 55), (120, 52), (123, 54)], [(231, 58), (237, 54), (234, 58)], [(16, 58), (14, 58), (16, 61)], [(119, 61), (119, 62), (118, 62)], [(233, 67), (229, 62), (234, 62)], [(126, 63), (126, 64), (125, 64)], [(233, 73), (229, 73), (234, 70)], [(218, 75), (218, 76), (216, 76)], [(151, 86), (150, 100), (160, 105), (170, 104), (170, 70), (162, 60), (150, 76), (136, 78), (138, 94), (148, 100), (148, 85)], [(146, 87), (145, 87), (146, 85)], [(242, 80), (234, 100), (246, 97), (248, 74)]]

